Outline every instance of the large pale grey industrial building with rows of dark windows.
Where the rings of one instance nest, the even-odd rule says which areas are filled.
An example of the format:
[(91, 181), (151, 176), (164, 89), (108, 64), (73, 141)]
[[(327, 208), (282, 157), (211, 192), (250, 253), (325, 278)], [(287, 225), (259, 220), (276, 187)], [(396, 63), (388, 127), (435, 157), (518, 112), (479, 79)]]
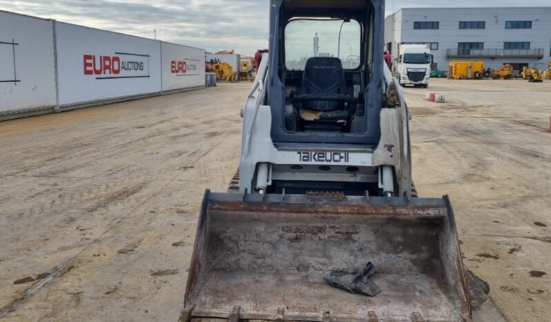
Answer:
[(433, 69), (449, 61), (482, 60), (485, 67), (512, 64), (545, 68), (551, 59), (551, 7), (403, 8), (385, 20), (385, 50), (398, 62), (402, 44), (427, 44)]

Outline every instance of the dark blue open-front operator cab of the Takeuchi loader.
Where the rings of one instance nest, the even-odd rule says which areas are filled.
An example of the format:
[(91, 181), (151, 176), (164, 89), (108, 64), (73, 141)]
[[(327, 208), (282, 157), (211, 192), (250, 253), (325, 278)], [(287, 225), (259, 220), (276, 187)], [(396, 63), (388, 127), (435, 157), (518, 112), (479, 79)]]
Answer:
[[(272, 10), (274, 143), (377, 144), (383, 107), (379, 0), (286, 0)], [(312, 8), (315, 9), (312, 9)], [(307, 9), (306, 9), (307, 8)], [(379, 21), (379, 22), (380, 22)]]

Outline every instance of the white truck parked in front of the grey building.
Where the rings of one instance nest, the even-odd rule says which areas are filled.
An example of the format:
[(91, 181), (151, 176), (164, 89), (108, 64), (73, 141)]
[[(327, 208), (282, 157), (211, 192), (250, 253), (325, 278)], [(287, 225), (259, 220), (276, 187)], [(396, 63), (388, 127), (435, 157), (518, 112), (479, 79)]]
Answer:
[(426, 45), (402, 45), (398, 56), (400, 85), (429, 87), (432, 55)]

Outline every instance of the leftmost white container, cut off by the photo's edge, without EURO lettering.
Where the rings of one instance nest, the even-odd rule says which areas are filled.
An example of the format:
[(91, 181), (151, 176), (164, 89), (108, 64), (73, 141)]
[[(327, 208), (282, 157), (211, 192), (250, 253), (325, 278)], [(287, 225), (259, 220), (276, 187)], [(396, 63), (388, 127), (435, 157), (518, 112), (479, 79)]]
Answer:
[(0, 115), (56, 105), (52, 21), (0, 11)]

